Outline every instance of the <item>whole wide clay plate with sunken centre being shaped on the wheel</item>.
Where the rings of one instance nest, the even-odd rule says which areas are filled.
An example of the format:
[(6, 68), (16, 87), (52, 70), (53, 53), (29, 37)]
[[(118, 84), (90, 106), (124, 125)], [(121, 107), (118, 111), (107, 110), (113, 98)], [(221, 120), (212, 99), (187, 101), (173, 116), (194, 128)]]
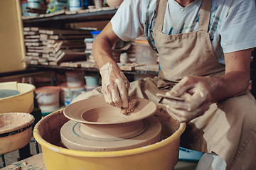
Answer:
[(65, 117), (85, 124), (117, 124), (142, 120), (154, 114), (156, 105), (144, 98), (136, 98), (137, 107), (129, 115), (123, 115), (120, 108), (105, 102), (105, 98), (95, 97), (71, 103), (64, 109)]

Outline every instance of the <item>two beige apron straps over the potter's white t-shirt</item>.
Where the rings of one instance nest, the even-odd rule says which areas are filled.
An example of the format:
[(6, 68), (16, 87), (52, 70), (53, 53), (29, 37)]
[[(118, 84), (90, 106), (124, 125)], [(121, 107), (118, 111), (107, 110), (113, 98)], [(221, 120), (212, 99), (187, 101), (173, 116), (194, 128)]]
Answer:
[[(162, 31), (164, 26), (164, 14), (166, 12), (166, 5), (168, 0), (159, 0), (157, 1), (158, 6), (156, 5), (156, 30)], [(211, 0), (202, 0), (202, 6), (199, 16), (199, 26), (198, 30), (204, 30), (208, 32), (209, 22), (210, 22), (210, 8)]]

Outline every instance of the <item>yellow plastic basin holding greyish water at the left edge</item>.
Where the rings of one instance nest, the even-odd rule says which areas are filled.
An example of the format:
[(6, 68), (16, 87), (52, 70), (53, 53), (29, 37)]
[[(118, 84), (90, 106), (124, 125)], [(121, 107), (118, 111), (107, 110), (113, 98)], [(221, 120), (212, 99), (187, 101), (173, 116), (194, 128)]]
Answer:
[(34, 108), (32, 84), (17, 83), (16, 81), (0, 83), (0, 89), (19, 91), (20, 94), (0, 98), (0, 113), (31, 113)]

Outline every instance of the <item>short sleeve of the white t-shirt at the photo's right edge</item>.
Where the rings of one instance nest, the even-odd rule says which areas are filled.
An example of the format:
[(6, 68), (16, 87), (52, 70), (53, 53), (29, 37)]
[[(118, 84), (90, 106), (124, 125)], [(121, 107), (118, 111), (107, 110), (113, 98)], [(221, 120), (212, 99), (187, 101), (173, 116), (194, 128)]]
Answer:
[(256, 47), (255, 0), (233, 0), (220, 28), (223, 52), (235, 52)]

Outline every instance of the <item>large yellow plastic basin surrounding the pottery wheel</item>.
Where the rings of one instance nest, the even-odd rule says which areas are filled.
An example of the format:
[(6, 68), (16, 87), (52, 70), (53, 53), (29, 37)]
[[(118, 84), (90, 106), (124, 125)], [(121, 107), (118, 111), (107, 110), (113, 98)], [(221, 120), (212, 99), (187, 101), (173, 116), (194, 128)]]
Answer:
[[(160, 113), (160, 114), (159, 114)], [(185, 123), (177, 123), (169, 118), (162, 123), (161, 109), (152, 115), (162, 124), (164, 140), (146, 147), (114, 152), (85, 152), (61, 147), (60, 128), (68, 121), (63, 110), (55, 111), (40, 120), (33, 135), (42, 147), (46, 169), (90, 169), (90, 170), (167, 170), (174, 169), (178, 162), (180, 136), (186, 128)], [(167, 113), (165, 113), (167, 114)], [(170, 134), (170, 135), (169, 135)]]

